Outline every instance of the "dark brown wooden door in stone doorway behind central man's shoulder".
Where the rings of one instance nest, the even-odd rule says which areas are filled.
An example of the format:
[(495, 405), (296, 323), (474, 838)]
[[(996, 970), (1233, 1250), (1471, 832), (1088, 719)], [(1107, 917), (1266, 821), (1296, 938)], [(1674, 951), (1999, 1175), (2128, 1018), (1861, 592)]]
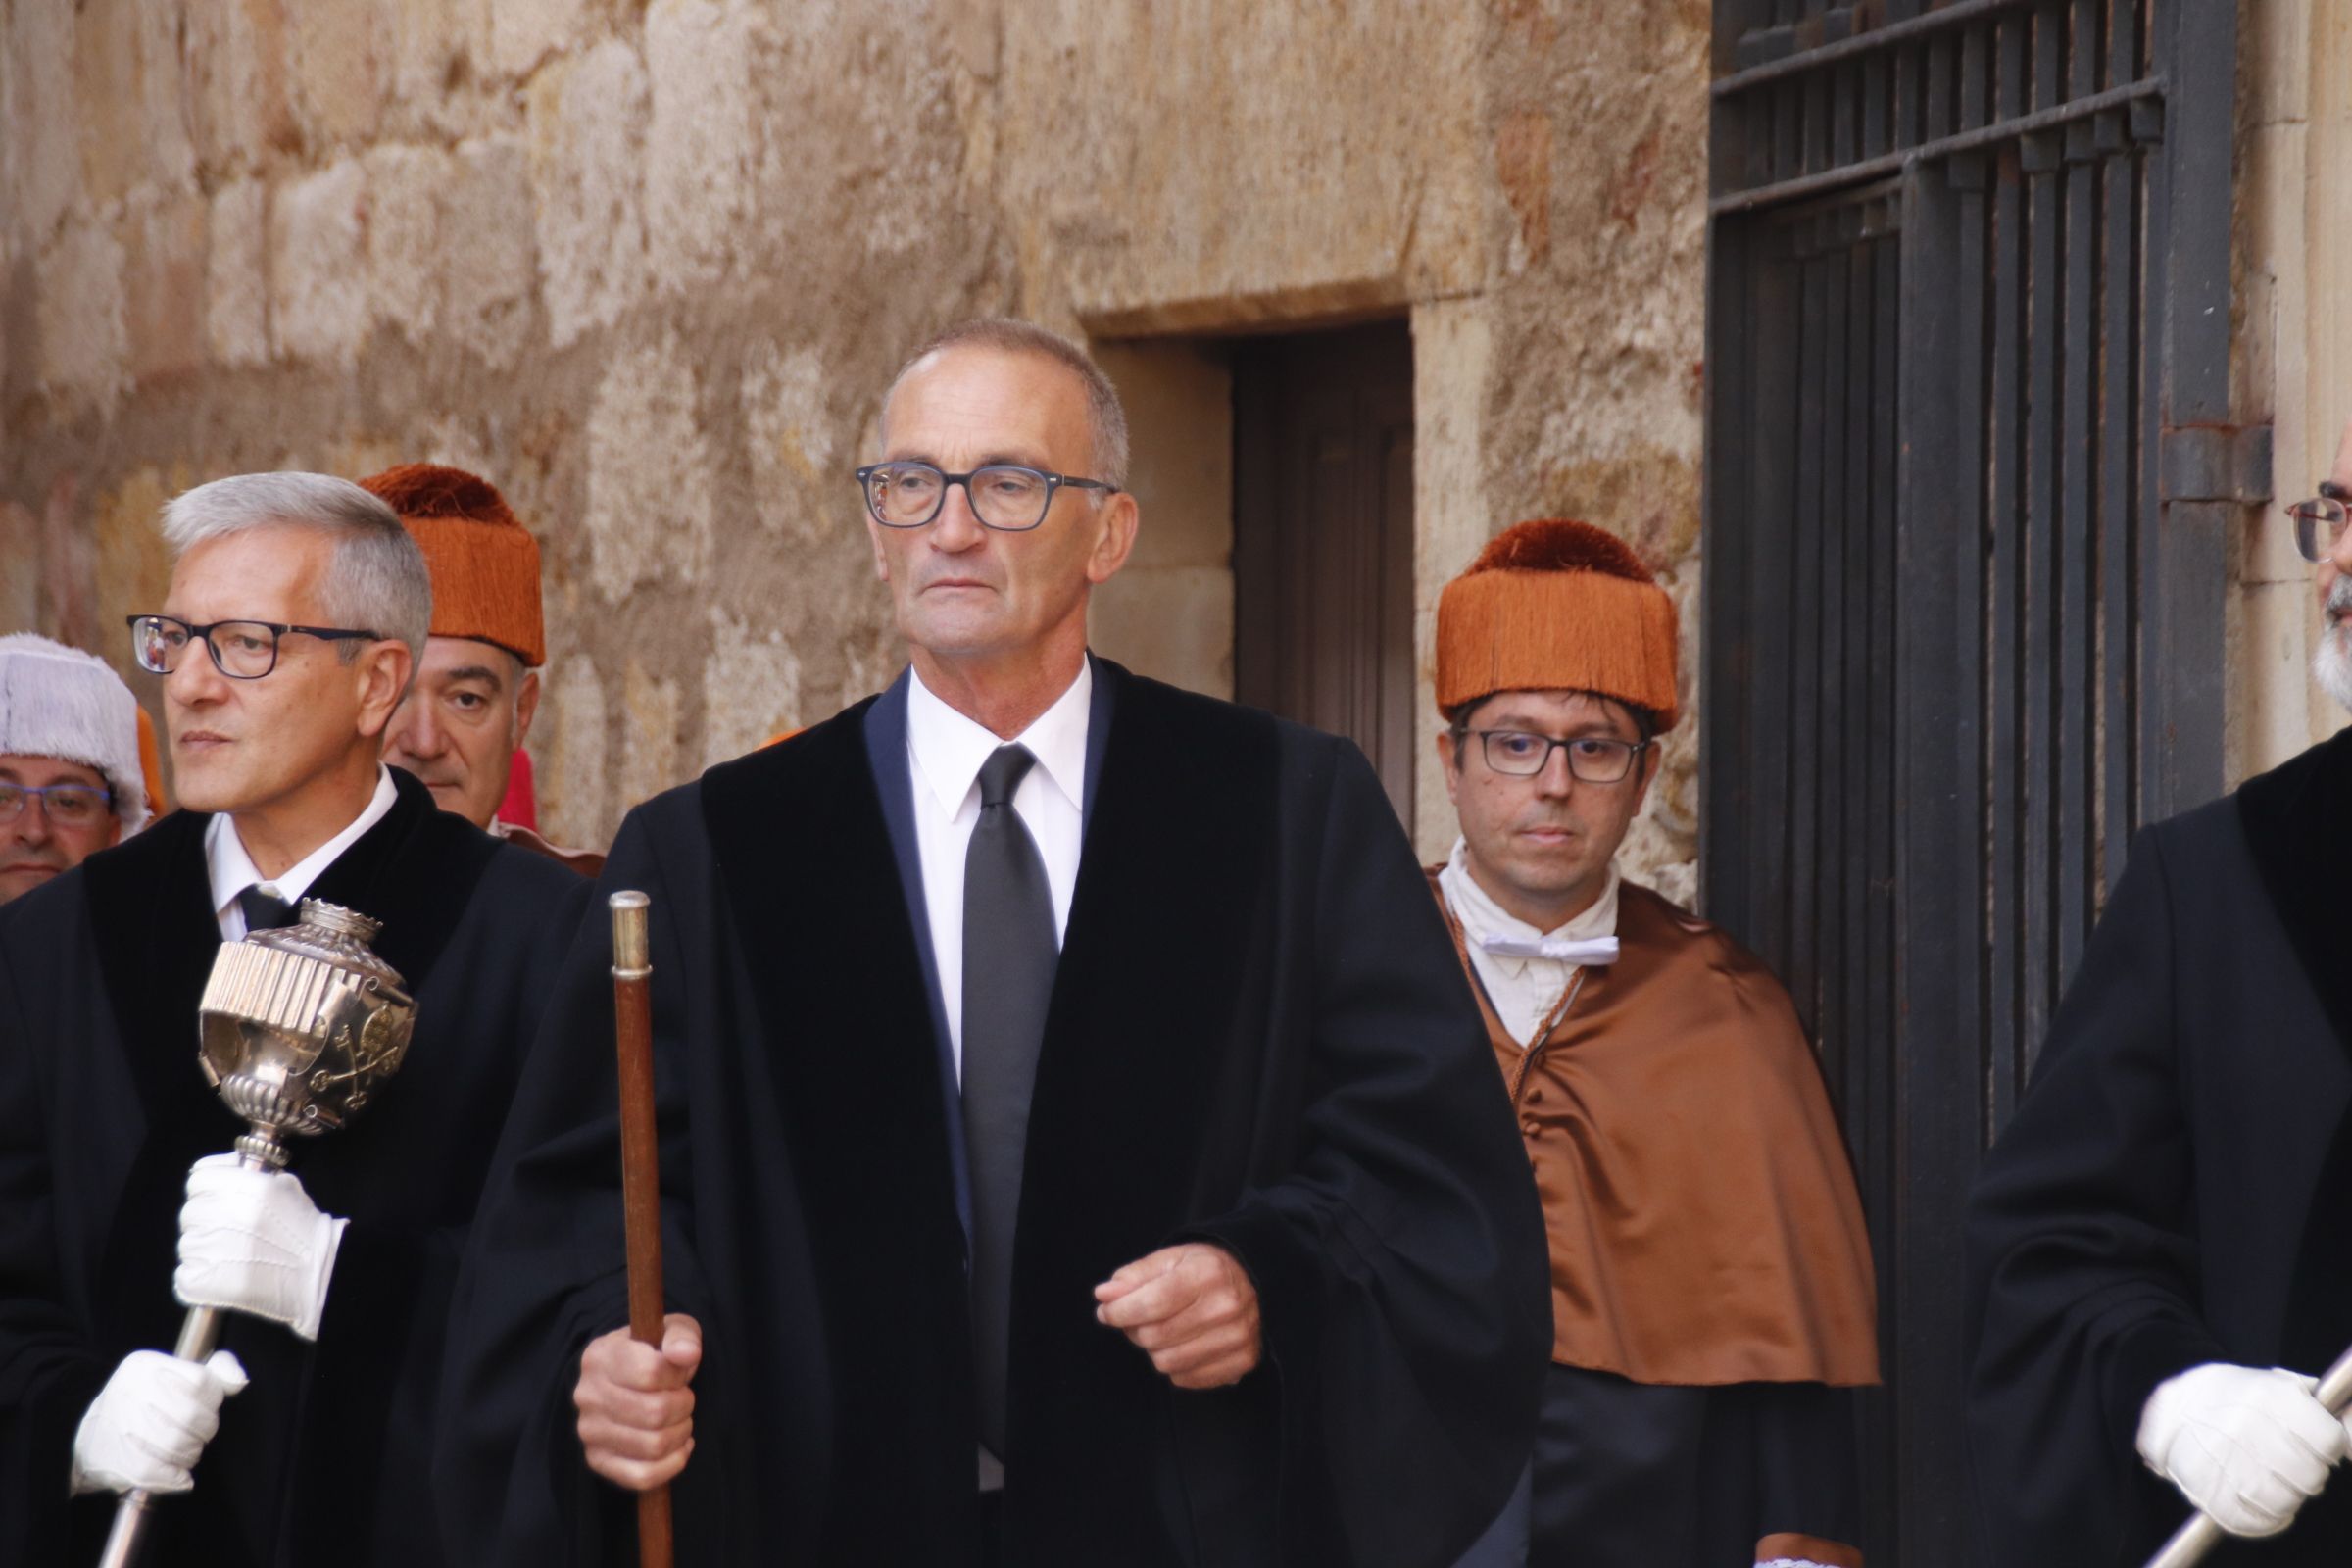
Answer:
[(1414, 820), (1414, 341), (1404, 322), (1232, 357), (1232, 686), (1364, 748)]

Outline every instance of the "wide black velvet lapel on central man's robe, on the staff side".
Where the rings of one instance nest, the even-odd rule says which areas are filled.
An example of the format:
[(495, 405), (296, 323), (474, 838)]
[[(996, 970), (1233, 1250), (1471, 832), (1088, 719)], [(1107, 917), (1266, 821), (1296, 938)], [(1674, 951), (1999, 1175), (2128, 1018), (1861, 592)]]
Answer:
[[(964, 1232), (931, 1004), (861, 703), (703, 773), (807, 1204), (835, 1443), (818, 1561), (955, 1563), (974, 1507)], [(938, 1507), (955, 1512), (946, 1535)]]

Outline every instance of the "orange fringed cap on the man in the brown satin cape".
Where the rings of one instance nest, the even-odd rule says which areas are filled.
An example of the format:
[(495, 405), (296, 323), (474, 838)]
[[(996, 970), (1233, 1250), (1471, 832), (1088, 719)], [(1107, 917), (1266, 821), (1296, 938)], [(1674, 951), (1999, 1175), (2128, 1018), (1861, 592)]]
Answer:
[(1437, 597), (1437, 708), (1491, 691), (1597, 691), (1672, 729), (1675, 602), (1616, 534), (1512, 524)]

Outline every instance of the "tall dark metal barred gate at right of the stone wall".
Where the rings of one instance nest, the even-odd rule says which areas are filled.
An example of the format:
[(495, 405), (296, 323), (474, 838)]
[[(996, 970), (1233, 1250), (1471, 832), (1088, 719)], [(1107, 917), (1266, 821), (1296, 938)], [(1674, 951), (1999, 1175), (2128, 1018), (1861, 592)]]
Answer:
[(1865, 1547), (1973, 1563), (1962, 1218), (2131, 832), (2223, 785), (2237, 0), (1719, 0), (1703, 900), (1879, 1265)]

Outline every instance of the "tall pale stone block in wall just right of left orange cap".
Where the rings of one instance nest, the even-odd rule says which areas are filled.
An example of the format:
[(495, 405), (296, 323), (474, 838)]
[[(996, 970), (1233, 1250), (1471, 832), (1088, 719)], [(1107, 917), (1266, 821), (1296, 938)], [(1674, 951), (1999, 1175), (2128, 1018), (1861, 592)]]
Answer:
[(607, 599), (710, 576), (710, 447), (675, 336), (614, 355), (588, 414), (588, 581)]

